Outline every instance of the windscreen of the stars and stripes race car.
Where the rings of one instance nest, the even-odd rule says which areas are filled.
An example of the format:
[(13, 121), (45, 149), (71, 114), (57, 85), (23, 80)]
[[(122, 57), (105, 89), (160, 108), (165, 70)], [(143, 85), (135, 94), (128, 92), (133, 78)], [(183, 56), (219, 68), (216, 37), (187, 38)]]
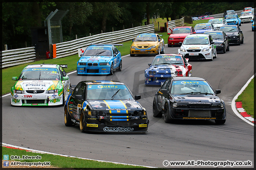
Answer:
[(151, 65), (184, 65), (181, 56), (156, 56)]

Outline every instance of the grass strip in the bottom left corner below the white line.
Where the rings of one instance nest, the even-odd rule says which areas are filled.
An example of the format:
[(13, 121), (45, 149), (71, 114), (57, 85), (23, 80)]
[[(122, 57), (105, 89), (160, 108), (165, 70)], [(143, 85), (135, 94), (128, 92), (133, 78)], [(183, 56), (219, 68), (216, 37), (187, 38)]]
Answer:
[[(122, 165), (122, 164), (114, 164), (107, 162), (98, 162), (94, 160), (85, 160), (79, 158), (69, 158), (63, 157), (60, 155), (52, 155), (52, 154), (42, 154), (42, 153), (33, 153), (27, 152), (26, 150), (20, 149), (12, 149), (2, 147), (2, 160), (4, 159), (4, 155), (9, 155), (9, 160), (11, 155), (17, 155), (22, 158), (22, 155), (29, 156), (41, 156), (41, 159), (14, 159), (17, 162), (50, 162), (51, 166), (58, 168), (145, 168), (143, 166), (132, 166), (132, 165)], [(8, 161), (8, 160), (5, 160)], [(15, 168), (15, 166), (9, 166), (9, 168)], [(38, 167), (39, 168), (39, 167)]]

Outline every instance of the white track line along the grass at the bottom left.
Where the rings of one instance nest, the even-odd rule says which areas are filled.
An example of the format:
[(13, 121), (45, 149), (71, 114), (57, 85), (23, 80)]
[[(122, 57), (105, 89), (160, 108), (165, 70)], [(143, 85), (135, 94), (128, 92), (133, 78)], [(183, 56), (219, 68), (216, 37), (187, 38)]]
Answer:
[[(73, 156), (69, 156), (69, 155), (62, 155), (62, 154), (57, 154), (57, 153), (44, 152), (44, 151), (38, 151), (38, 150), (34, 150), (34, 149), (23, 148), (23, 147), (19, 147), (19, 146), (9, 145), (9, 144), (6, 144), (6, 143), (2, 143), (2, 146), (8, 146), (8, 147), (13, 147), (13, 148), (18, 148), (18, 149), (24, 149), (26, 151), (42, 153), (42, 154), (60, 155), (60, 156), (69, 157), (69, 158), (79, 158), (79, 159), (85, 159), (85, 160), (94, 160), (94, 161), (97, 161), (97, 162), (107, 162), (107, 163), (113, 163), (113, 164), (132, 165), (132, 166), (143, 166), (143, 165), (125, 164), (125, 163), (119, 163), (119, 162), (110, 162), (110, 161), (97, 160), (97, 159), (73, 157)], [(157, 168), (157, 167), (153, 167), (153, 166), (143, 166), (143, 167), (145, 167), (145, 168)]]

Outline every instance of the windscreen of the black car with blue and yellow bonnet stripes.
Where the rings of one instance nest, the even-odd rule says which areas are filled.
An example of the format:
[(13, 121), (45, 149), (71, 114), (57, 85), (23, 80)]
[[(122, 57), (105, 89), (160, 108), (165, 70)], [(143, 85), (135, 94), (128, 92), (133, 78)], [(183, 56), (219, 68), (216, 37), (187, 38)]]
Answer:
[(86, 100), (133, 100), (133, 96), (125, 85), (89, 84)]

